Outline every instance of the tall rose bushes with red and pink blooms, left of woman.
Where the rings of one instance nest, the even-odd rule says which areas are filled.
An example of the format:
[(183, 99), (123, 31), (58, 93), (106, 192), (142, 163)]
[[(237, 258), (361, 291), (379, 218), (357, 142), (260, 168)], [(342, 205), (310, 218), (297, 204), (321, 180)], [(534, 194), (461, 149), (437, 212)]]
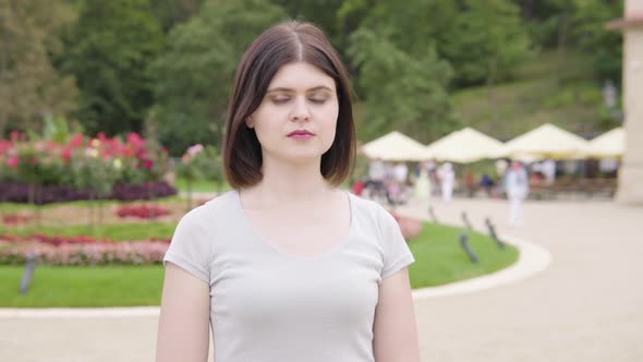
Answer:
[(0, 140), (0, 202), (47, 204), (173, 195), (174, 189), (159, 182), (168, 168), (167, 158), (165, 147), (136, 133), (125, 138), (99, 133), (52, 140), (12, 132), (10, 140)]

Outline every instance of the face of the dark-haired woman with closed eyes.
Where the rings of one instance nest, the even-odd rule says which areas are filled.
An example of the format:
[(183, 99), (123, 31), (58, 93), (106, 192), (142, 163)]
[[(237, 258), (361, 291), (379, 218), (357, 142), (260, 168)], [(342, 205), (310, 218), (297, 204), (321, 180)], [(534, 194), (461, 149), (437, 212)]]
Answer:
[(246, 124), (254, 128), (264, 161), (313, 161), (335, 140), (339, 101), (335, 81), (306, 62), (282, 65)]

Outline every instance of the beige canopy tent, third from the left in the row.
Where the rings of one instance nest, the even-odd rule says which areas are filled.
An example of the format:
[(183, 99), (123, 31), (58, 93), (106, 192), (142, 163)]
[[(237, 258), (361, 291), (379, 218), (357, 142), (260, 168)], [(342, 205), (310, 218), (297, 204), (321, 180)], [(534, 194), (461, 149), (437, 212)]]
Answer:
[(575, 159), (585, 157), (587, 146), (584, 138), (547, 123), (509, 141), (496, 156), (518, 159)]

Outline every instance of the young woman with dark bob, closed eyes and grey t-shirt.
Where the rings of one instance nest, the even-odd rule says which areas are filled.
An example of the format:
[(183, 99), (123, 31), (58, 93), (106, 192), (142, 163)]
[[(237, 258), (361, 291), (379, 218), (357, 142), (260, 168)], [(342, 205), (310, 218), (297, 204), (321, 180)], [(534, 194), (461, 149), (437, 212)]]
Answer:
[(234, 189), (179, 222), (165, 256), (157, 361), (417, 362), (407, 266), (379, 205), (337, 186), (355, 152), (347, 72), (288, 22), (239, 64), (223, 167)]

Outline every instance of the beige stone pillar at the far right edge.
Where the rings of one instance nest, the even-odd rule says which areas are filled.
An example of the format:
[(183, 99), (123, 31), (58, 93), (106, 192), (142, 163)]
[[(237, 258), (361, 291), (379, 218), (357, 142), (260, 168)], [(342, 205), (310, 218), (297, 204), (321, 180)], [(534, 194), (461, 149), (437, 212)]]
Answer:
[(623, 111), (626, 150), (617, 201), (643, 205), (643, 0), (626, 0), (624, 19), (608, 28), (623, 32)]

